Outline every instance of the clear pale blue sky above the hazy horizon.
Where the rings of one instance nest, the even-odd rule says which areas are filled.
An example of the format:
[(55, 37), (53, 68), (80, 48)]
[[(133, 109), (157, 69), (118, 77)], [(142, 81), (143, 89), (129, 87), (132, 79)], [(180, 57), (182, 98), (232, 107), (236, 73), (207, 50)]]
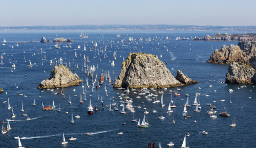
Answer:
[(256, 1), (2, 1), (0, 26), (181, 24), (256, 26)]

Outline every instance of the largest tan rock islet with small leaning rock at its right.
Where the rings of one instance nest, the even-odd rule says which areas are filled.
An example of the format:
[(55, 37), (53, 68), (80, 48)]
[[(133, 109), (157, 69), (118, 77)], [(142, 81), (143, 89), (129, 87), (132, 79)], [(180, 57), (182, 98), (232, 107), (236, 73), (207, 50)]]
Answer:
[[(189, 78), (181, 71), (178, 73), (180, 75), (177, 78), (184, 80), (180, 86), (194, 84), (189, 82)], [(126, 58), (126, 62), (122, 63), (121, 71), (113, 87), (169, 88), (177, 87), (179, 83), (180, 81), (174, 78), (158, 56), (133, 53)]]

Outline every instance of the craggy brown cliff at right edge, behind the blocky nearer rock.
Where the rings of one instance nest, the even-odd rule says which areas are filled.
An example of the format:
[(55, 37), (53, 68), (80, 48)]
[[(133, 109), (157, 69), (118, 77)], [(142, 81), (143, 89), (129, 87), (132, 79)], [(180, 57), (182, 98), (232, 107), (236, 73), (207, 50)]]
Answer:
[(223, 45), (220, 51), (215, 50), (206, 62), (215, 64), (230, 64), (237, 62), (239, 64), (246, 64), (254, 62), (251, 60), (256, 56), (256, 42), (253, 41), (240, 41), (238, 45)]

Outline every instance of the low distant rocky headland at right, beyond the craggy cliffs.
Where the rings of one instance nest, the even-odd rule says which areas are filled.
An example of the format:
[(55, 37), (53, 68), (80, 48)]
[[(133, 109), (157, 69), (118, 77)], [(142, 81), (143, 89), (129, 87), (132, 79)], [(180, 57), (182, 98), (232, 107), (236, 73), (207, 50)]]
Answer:
[(247, 34), (215, 34), (213, 36), (205, 35), (202, 38), (196, 37), (195, 41), (256, 41), (255, 33)]

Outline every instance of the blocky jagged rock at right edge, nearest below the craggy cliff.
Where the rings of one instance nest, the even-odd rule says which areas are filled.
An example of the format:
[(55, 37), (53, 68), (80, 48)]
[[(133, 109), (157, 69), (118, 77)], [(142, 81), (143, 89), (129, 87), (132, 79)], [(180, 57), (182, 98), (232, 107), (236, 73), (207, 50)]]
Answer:
[(236, 62), (229, 64), (226, 73), (226, 83), (251, 84), (255, 83), (256, 70), (250, 65), (240, 65)]

